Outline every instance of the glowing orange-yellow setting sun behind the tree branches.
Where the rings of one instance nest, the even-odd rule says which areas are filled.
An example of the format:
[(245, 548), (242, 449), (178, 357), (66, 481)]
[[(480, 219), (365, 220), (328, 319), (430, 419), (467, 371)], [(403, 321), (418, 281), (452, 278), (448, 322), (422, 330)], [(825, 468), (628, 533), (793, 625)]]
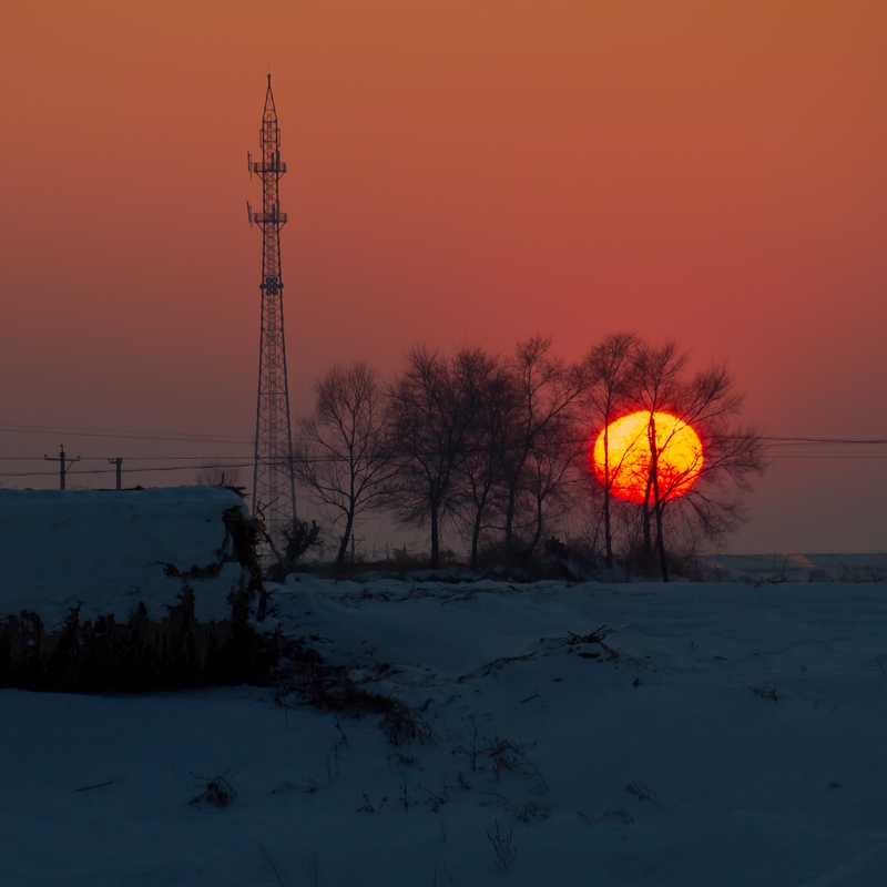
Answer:
[[(610, 422), (594, 442), (594, 473), (605, 483), (610, 466), (610, 492), (629, 502), (653, 501), (652, 450), (659, 452), (657, 486), (661, 502), (683, 496), (702, 470), (702, 441), (691, 426), (670, 412), (641, 410)], [(609, 453), (609, 459), (608, 459)]]

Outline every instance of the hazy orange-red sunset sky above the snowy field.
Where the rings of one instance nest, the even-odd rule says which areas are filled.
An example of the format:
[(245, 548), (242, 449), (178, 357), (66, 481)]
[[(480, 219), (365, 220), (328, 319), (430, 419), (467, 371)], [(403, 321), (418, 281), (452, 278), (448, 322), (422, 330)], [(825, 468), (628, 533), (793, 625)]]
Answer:
[[(0, 475), (251, 452), (268, 72), (295, 415), (335, 363), (632, 330), (767, 435), (887, 439), (886, 38), (880, 0), (6, 0)], [(776, 455), (728, 549), (887, 549), (887, 447)]]

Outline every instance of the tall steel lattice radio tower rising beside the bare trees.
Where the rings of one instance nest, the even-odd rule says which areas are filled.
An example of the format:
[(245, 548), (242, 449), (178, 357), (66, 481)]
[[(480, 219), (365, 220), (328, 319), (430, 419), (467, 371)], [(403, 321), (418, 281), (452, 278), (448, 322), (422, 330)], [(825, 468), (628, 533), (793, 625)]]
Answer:
[(262, 177), (262, 212), (247, 203), (249, 224), (262, 228), (262, 326), (258, 340), (258, 402), (256, 406), (256, 449), (253, 471), (253, 514), (261, 512), (272, 538), (296, 518), (296, 482), (293, 472), (293, 436), (289, 428), (289, 385), (286, 378), (284, 341), (284, 284), (281, 277), (281, 228), (286, 213), (281, 212), (277, 194), (286, 164), (281, 162), (281, 131), (274, 94), (265, 93), (265, 111), (259, 130), (262, 160), (247, 154), (249, 175)]

